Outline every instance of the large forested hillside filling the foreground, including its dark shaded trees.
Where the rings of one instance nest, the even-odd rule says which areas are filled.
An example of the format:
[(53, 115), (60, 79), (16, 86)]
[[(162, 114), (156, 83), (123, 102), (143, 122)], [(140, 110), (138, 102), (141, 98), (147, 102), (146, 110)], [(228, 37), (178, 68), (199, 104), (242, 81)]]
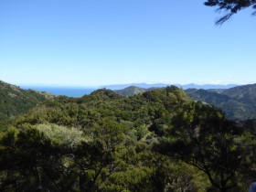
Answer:
[(56, 97), (0, 137), (1, 191), (247, 191), (255, 133), (174, 86)]

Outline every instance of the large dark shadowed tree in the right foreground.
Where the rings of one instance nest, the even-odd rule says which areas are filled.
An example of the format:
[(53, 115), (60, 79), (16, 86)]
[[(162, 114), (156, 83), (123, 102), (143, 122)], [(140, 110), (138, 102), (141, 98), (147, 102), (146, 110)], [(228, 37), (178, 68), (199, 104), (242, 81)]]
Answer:
[(156, 150), (205, 172), (214, 190), (238, 188), (247, 156), (243, 129), (201, 102), (187, 105), (172, 122)]

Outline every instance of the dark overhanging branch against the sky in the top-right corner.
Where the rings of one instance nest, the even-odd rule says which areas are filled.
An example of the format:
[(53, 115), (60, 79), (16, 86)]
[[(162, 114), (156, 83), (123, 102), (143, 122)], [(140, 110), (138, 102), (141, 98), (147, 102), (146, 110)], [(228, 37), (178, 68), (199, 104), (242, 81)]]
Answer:
[[(207, 6), (218, 7), (218, 11), (225, 11), (227, 14), (221, 16), (217, 21), (217, 25), (223, 24), (225, 21), (229, 20), (231, 16), (237, 14), (240, 10), (252, 7), (256, 9), (256, 0), (208, 0), (205, 2)], [(256, 15), (256, 11), (252, 13)]]

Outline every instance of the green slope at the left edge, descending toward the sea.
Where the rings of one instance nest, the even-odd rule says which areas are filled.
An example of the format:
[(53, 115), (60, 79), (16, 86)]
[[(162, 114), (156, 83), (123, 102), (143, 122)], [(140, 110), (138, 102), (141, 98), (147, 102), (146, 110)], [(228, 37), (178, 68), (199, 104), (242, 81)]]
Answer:
[(25, 113), (49, 98), (53, 98), (53, 95), (47, 92), (22, 90), (0, 80), (0, 122)]

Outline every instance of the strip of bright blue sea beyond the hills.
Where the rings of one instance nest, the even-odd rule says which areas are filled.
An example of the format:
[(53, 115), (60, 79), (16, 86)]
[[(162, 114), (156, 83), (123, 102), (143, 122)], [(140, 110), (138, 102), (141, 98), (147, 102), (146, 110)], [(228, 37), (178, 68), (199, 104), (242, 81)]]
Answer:
[(65, 95), (68, 97), (82, 97), (91, 94), (96, 88), (80, 88), (80, 87), (44, 87), (44, 86), (19, 86), (24, 90), (46, 91), (56, 96)]

